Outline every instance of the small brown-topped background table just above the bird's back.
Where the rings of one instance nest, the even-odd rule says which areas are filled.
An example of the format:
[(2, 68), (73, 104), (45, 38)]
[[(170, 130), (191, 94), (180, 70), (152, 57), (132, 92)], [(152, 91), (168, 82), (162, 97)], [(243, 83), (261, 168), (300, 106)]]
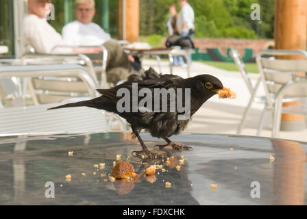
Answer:
[[(163, 47), (153, 47), (151, 49), (131, 49), (124, 47), (125, 51), (129, 53), (130, 55), (140, 55), (140, 56), (156, 56), (156, 59), (158, 61), (158, 66), (160, 73), (162, 73), (162, 68), (161, 68), (161, 60), (160, 60), (160, 55), (167, 55), (169, 57), (169, 68), (170, 68), (170, 73), (173, 75), (173, 57), (182, 55), (186, 58), (186, 60), (189, 60), (190, 57), (188, 54), (193, 54), (195, 53), (195, 49), (173, 49), (173, 48), (163, 48)], [(186, 62), (186, 70), (187, 70), (187, 75), (188, 77), (191, 77), (191, 63)]]

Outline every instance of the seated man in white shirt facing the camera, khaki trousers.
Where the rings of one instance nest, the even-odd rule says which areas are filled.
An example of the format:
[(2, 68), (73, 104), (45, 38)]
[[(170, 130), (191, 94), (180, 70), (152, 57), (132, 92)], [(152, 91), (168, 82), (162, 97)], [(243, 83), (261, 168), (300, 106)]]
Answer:
[(127, 55), (121, 45), (112, 40), (99, 25), (93, 23), (95, 16), (94, 0), (76, 0), (75, 15), (77, 20), (66, 24), (62, 29), (65, 44), (75, 46), (98, 46), (103, 44), (108, 50), (107, 79), (116, 83), (127, 79), (128, 71), (133, 70), (130, 62), (134, 57)]

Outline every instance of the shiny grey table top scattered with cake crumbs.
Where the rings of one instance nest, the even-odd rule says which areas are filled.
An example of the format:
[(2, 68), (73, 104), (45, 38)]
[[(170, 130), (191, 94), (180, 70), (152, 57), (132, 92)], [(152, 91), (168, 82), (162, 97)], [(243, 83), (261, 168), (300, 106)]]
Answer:
[[(162, 140), (141, 135), (149, 149)], [(307, 144), (269, 138), (182, 133), (171, 140), (193, 147), (166, 149), (171, 164), (156, 181), (143, 176), (145, 161), (128, 133), (0, 138), (0, 205), (305, 205)], [(68, 152), (73, 151), (73, 156)], [(142, 174), (138, 181), (108, 179), (116, 155)], [(270, 161), (270, 155), (275, 160)], [(181, 156), (185, 164), (177, 171)], [(148, 162), (148, 161), (147, 161)], [(94, 164), (105, 163), (102, 170)], [(150, 163), (150, 162), (149, 162)], [(96, 172), (96, 175), (93, 175)], [(82, 175), (86, 173), (86, 176)], [(66, 175), (71, 181), (66, 181)], [(101, 174), (106, 174), (101, 177)], [(55, 198), (46, 198), (47, 182)], [(150, 182), (151, 181), (151, 182)], [(171, 182), (166, 188), (165, 182)], [(253, 183), (254, 182), (254, 183)], [(213, 189), (211, 184), (217, 184)], [(251, 185), (253, 187), (251, 187)], [(255, 186), (255, 187), (254, 187)], [(256, 192), (255, 192), (256, 191)], [(260, 198), (253, 198), (259, 194)]]

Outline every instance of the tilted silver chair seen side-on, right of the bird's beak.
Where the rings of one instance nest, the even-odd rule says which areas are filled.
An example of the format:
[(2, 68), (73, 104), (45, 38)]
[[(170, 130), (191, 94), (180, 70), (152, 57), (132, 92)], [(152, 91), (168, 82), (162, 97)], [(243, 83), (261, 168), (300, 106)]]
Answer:
[(265, 104), (265, 107), (262, 110), (262, 114), (260, 116), (260, 120), (259, 120), (259, 123), (258, 123), (257, 136), (260, 136), (262, 126), (263, 126), (263, 121), (264, 121), (264, 118), (265, 118), (265, 112), (267, 111), (267, 103), (265, 101), (265, 96), (256, 96), (256, 92), (257, 92), (259, 85), (260, 85), (261, 77), (260, 76), (258, 77), (258, 79), (256, 81), (256, 85), (253, 87), (251, 80), (248, 77), (248, 73), (247, 73), (247, 70), (245, 68), (245, 64), (244, 64), (243, 60), (241, 59), (238, 51), (234, 48), (230, 49), (230, 56), (232, 57), (232, 59), (236, 63), (236, 66), (238, 67), (238, 70), (241, 73), (243, 80), (245, 81), (245, 85), (247, 86), (249, 93), (251, 94), (249, 104), (245, 108), (245, 111), (243, 113), (243, 117), (241, 119), (241, 123), (238, 126), (238, 130), (237, 130), (236, 133), (238, 135), (242, 133), (243, 127), (246, 123), (247, 114), (249, 113), (249, 110), (250, 110), (250, 107), (251, 107), (251, 104), (254, 103), (254, 101), (255, 101), (256, 103), (264, 103)]

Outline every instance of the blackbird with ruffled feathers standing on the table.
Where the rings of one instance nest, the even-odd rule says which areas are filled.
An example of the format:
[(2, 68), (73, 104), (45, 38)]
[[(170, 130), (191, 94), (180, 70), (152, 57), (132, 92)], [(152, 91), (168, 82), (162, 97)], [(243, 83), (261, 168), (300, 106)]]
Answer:
[[(177, 95), (177, 89), (182, 88), (182, 90), (188, 89), (190, 90), (189, 101), (191, 103), (190, 109), (188, 109), (188, 114), (190, 117), (185, 119), (179, 119), (179, 116), (183, 115), (184, 112), (179, 111), (177, 108), (175, 112), (171, 112), (170, 106), (174, 104), (170, 101), (170, 95), (167, 96), (167, 112), (164, 111), (157, 111), (157, 110), (147, 110), (144, 112), (140, 112), (138, 110), (130, 110), (125, 112), (119, 112), (117, 102), (121, 99), (121, 96), (117, 95), (117, 92), (121, 88), (126, 88), (130, 91), (130, 95), (133, 99), (132, 92), (133, 92), (133, 83), (134, 85), (137, 83), (137, 89), (140, 91), (142, 88), (147, 88), (147, 90), (151, 91), (152, 99), (154, 99), (154, 90), (155, 89), (162, 89), (165, 88), (167, 90), (174, 89), (176, 90), (175, 95)], [(143, 154), (147, 155), (148, 157), (153, 157), (153, 153), (151, 153), (147, 147), (145, 146), (143, 140), (140, 138), (139, 131), (141, 129), (147, 129), (151, 136), (157, 138), (163, 138), (167, 144), (165, 145), (157, 145), (160, 149), (164, 148), (165, 146), (172, 146), (173, 149), (176, 150), (191, 150), (191, 147), (182, 146), (179, 144), (175, 144), (169, 140), (170, 136), (176, 135), (186, 129), (188, 123), (191, 120), (191, 116), (199, 110), (199, 107), (203, 105), (210, 97), (218, 94), (219, 90), (223, 90), (223, 84), (217, 77), (213, 77), (212, 75), (197, 75), (195, 77), (191, 77), (188, 79), (183, 79), (177, 75), (158, 75), (152, 68), (145, 71), (144, 75), (130, 75), (127, 81), (124, 83), (119, 84), (110, 89), (98, 89), (97, 92), (102, 94), (98, 98), (91, 99), (88, 101), (80, 101), (77, 103), (68, 103), (65, 105), (60, 105), (58, 107), (53, 107), (49, 110), (60, 109), (64, 107), (93, 107), (99, 110), (106, 110), (108, 112), (113, 112), (114, 114), (118, 114), (122, 118), (127, 120), (127, 123), (130, 123), (132, 131), (140, 145), (143, 148), (143, 151), (133, 151), (132, 155), (135, 154), (137, 156)], [(183, 92), (184, 93), (184, 92)], [(150, 92), (149, 92), (150, 94)], [(182, 103), (185, 102), (186, 96), (182, 95)], [(141, 96), (138, 96), (138, 103), (142, 99)], [(132, 102), (132, 101), (131, 101)], [(160, 100), (160, 103), (162, 100)], [(153, 103), (155, 106), (156, 102)], [(130, 104), (132, 106), (132, 103)], [(161, 110), (162, 104), (160, 104)], [(131, 112), (132, 111), (132, 112)]]

